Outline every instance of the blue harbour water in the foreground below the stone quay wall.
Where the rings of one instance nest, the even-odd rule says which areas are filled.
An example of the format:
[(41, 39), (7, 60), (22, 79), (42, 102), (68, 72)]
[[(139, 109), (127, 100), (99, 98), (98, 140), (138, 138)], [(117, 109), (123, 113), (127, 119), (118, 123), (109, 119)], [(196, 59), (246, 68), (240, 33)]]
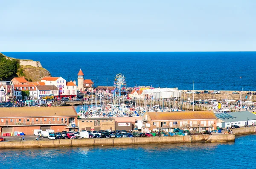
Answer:
[(255, 169), (256, 135), (235, 143), (148, 144), (0, 150), (1, 169)]

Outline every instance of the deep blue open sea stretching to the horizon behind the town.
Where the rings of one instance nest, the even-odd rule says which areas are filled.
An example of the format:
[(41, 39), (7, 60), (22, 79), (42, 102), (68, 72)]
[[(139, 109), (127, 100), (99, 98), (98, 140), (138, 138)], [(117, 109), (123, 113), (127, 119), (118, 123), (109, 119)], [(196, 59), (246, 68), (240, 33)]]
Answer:
[[(52, 76), (77, 80), (80, 68), (95, 85), (113, 86), (117, 73), (128, 87), (182, 90), (256, 90), (256, 52), (3, 52), (40, 61)], [(240, 78), (241, 77), (241, 78)], [(107, 82), (108, 78), (108, 82)]]

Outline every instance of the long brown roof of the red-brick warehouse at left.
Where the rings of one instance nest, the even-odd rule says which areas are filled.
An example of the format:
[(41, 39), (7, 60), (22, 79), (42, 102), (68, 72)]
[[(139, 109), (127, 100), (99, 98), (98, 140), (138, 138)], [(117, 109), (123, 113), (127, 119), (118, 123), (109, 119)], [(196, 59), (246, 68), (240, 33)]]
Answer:
[[(56, 114), (55, 114), (56, 113)], [(0, 118), (8, 117), (77, 116), (74, 107), (6, 107), (1, 108)]]

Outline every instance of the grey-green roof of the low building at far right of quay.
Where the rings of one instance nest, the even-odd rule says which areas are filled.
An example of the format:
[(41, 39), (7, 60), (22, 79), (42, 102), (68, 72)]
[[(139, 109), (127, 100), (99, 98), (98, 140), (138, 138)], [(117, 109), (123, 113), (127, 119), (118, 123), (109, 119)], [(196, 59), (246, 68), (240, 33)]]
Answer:
[(242, 111), (242, 112), (230, 112), (230, 113), (216, 113), (215, 114), (218, 119), (229, 123), (235, 121), (247, 121), (249, 120), (256, 120), (256, 115), (250, 113), (249, 111)]

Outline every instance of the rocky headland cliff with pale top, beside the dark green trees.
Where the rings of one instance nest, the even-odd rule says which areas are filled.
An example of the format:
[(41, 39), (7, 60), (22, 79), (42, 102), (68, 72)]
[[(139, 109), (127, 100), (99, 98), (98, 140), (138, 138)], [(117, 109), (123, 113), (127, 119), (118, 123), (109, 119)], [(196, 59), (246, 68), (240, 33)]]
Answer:
[[(0, 53), (0, 56), (4, 56), (6, 59), (13, 60), (15, 58), (11, 58), (5, 56)], [(33, 60), (25, 60), (25, 59), (15, 59), (18, 62), (17, 72), (5, 80), (10, 80), (13, 77), (25, 77), (28, 81), (41, 81), (41, 79), (45, 76), (51, 76), (50, 72), (42, 67), (41, 63)]]

